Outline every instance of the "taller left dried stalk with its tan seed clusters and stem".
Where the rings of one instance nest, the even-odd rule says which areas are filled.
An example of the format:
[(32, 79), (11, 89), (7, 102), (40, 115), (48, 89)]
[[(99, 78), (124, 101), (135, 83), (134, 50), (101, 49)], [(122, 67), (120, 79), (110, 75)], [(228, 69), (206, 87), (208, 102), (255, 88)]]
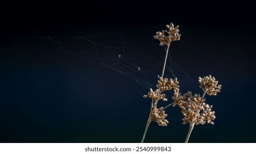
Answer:
[[(171, 23), (170, 25), (166, 25), (167, 30), (162, 30), (161, 32), (156, 32), (156, 35), (154, 36), (154, 38), (156, 40), (160, 41), (160, 46), (164, 46), (166, 45), (167, 48), (165, 48), (165, 61), (164, 61), (164, 67), (163, 67), (163, 72), (161, 74), (161, 77), (158, 80), (158, 85), (156, 85), (156, 87), (158, 89), (156, 89), (155, 91), (153, 91), (152, 89), (149, 90), (148, 95), (144, 95), (144, 98), (151, 98), (151, 109), (150, 109), (150, 113), (149, 113), (149, 118), (147, 121), (147, 125), (142, 137), (142, 142), (144, 142), (145, 139), (145, 135), (147, 134), (148, 131), (148, 127), (149, 124), (154, 121), (157, 122), (159, 126), (166, 126), (169, 122), (168, 120), (166, 120), (166, 116), (167, 114), (165, 114), (164, 108), (157, 108), (157, 104), (159, 100), (164, 100), (167, 101), (167, 99), (165, 98), (165, 94), (162, 94), (164, 91), (169, 91), (171, 89), (174, 89), (174, 97), (177, 97), (177, 94), (179, 94), (179, 82), (177, 81), (177, 78), (173, 79), (168, 79), (168, 78), (164, 78), (164, 70), (165, 70), (165, 65), (166, 65), (166, 59), (168, 57), (168, 51), (169, 51), (169, 47), (170, 47), (170, 43), (172, 41), (177, 41), (180, 40), (180, 35), (179, 35), (179, 26), (174, 27), (173, 23)], [(167, 36), (165, 35), (168, 34)]]

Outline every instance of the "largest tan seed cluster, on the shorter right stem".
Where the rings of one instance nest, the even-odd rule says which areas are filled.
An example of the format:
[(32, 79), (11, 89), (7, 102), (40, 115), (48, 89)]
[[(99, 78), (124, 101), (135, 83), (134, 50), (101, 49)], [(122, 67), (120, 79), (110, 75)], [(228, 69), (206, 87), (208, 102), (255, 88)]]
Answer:
[[(212, 112), (212, 106), (205, 103), (205, 99), (200, 95), (192, 95), (192, 92), (187, 92), (175, 101), (175, 105), (179, 105), (181, 113), (184, 116), (183, 123), (205, 124), (205, 122), (214, 124), (212, 121), (216, 118), (215, 112)], [(202, 111), (202, 113), (200, 113)]]

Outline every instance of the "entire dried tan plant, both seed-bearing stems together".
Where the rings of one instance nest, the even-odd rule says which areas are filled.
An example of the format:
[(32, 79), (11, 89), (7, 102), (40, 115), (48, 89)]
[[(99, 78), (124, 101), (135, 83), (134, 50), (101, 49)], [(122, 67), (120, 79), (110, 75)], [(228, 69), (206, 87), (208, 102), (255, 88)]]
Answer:
[[(205, 124), (206, 122), (213, 125), (213, 120), (216, 118), (215, 112), (211, 111), (212, 106), (206, 104), (206, 98), (204, 98), (205, 94), (208, 94), (210, 96), (217, 95), (217, 92), (220, 92), (221, 90), (221, 85), (218, 85), (218, 81), (216, 81), (214, 77), (212, 77), (211, 75), (205, 76), (203, 78), (199, 77), (198, 82), (200, 83), (200, 88), (203, 90), (202, 97), (200, 97), (200, 95), (198, 94), (192, 95), (192, 92), (190, 91), (184, 95), (181, 95), (179, 89), (180, 86), (178, 85), (179, 81), (177, 81), (177, 78), (163, 78), (170, 43), (173, 41), (180, 40), (180, 34), (178, 29), (179, 25), (174, 27), (173, 23), (171, 23), (170, 25), (166, 25), (166, 28), (167, 30), (156, 32), (156, 35), (154, 36), (156, 40), (160, 41), (160, 46), (166, 46), (166, 55), (163, 66), (163, 72), (161, 76), (159, 76), (158, 85), (156, 85), (157, 89), (153, 90), (150, 88), (148, 94), (143, 96), (144, 98), (151, 98), (151, 109), (149, 113), (149, 118), (147, 120), (147, 125), (142, 137), (142, 143), (144, 142), (145, 136), (147, 134), (151, 122), (154, 121), (158, 123), (158, 125), (161, 127), (167, 126), (169, 122), (165, 118), (168, 116), (168, 114), (165, 113), (164, 109), (171, 105), (173, 105), (173, 107), (175, 107), (176, 105), (180, 107), (181, 113), (184, 116), (184, 118), (182, 119), (182, 124), (190, 124), (189, 133), (187, 133), (187, 137), (185, 140), (186, 143), (189, 141), (194, 125)], [(165, 34), (168, 35), (165, 36)], [(172, 97), (174, 102), (170, 103), (166, 107), (158, 108), (157, 105), (160, 100), (163, 100), (164, 102), (168, 101), (165, 98), (164, 92), (172, 89), (174, 92), (174, 95)]]

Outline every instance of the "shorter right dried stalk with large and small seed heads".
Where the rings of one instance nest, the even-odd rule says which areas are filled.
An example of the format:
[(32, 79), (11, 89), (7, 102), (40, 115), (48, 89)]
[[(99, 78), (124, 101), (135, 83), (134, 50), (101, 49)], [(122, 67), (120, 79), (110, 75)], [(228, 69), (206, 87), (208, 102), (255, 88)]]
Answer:
[(217, 85), (218, 81), (215, 81), (215, 78), (211, 75), (203, 78), (199, 77), (198, 82), (200, 83), (200, 88), (203, 90), (202, 97), (198, 94), (192, 95), (192, 92), (189, 91), (183, 96), (178, 94), (173, 104), (173, 107), (178, 105), (181, 109), (181, 113), (184, 116), (182, 124), (190, 124), (189, 133), (187, 133), (187, 138), (185, 140), (186, 143), (189, 141), (195, 125), (203, 125), (206, 122), (213, 125), (213, 120), (216, 118), (215, 112), (212, 111), (212, 105), (210, 106), (206, 104), (206, 99), (204, 97), (205, 94), (210, 96), (217, 95), (217, 92), (220, 92), (221, 90), (221, 85)]

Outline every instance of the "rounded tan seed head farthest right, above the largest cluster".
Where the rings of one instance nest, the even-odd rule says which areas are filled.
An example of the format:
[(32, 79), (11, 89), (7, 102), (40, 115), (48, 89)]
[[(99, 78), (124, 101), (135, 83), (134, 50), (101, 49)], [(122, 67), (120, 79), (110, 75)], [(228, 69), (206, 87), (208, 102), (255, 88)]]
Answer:
[(217, 85), (218, 81), (215, 81), (215, 78), (211, 75), (205, 76), (203, 78), (199, 77), (198, 82), (200, 83), (200, 88), (208, 95), (217, 95), (217, 92), (220, 92), (221, 85)]

